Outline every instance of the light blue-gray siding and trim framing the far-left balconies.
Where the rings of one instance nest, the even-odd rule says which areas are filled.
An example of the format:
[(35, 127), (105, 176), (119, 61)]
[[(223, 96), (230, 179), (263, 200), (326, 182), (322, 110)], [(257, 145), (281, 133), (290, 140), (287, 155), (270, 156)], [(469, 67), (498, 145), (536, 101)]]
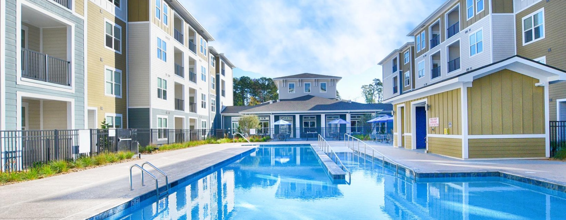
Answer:
[(34, 3), (36, 6), (43, 8), (61, 18), (67, 19), (75, 25), (75, 57), (71, 61), (74, 63), (75, 67), (75, 77), (72, 79), (75, 84), (75, 92), (60, 92), (57, 90), (30, 87), (26, 85), (16, 84), (16, 71), (17, 59), (16, 50), (19, 49), (19, 45), (16, 45), (16, 28), (18, 23), (16, 23), (16, 0), (5, 0), (6, 2), (6, 63), (3, 65), (5, 67), (6, 74), (6, 129), (14, 130), (16, 128), (16, 120), (18, 115), (16, 114), (16, 92), (31, 92), (38, 94), (45, 94), (50, 96), (72, 98), (75, 100), (75, 128), (84, 128), (85, 119), (85, 109), (84, 109), (84, 21), (73, 15), (70, 11), (63, 9), (49, 1), (42, 0), (29, 0), (29, 2)]

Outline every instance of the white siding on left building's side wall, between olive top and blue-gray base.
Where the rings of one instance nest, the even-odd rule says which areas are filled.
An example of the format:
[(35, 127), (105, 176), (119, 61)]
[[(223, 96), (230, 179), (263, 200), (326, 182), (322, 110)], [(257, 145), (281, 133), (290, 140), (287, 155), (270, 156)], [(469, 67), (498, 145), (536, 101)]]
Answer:
[[(130, 107), (149, 107), (149, 23), (128, 24), (128, 97)], [(155, 40), (155, 39), (154, 39)], [(157, 59), (157, 58), (156, 58)], [(148, 123), (149, 124), (149, 123)]]

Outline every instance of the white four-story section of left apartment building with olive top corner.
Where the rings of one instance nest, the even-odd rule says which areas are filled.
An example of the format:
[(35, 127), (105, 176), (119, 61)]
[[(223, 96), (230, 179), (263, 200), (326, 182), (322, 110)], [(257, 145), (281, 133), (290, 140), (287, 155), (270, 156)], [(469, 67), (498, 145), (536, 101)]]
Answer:
[(178, 1), (128, 1), (131, 128), (211, 127), (213, 40)]

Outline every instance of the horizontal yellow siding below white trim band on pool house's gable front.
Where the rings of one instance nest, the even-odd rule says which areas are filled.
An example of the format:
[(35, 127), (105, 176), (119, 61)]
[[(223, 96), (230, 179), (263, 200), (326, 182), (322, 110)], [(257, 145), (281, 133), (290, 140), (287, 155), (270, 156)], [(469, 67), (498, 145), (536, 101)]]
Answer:
[(469, 158), (546, 157), (544, 138), (469, 139)]

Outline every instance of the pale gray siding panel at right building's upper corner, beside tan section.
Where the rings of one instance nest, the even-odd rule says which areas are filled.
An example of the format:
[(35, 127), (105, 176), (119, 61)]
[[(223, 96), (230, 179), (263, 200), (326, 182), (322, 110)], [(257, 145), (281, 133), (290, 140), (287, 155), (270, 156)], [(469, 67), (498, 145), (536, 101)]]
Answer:
[(515, 55), (514, 15), (492, 15), (493, 62)]

